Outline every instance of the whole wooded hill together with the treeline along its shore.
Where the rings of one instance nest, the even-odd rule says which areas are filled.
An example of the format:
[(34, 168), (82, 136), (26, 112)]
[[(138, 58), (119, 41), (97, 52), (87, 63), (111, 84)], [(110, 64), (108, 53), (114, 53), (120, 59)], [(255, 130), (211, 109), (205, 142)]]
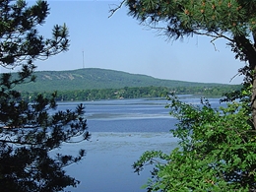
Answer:
[(50, 96), (51, 92), (55, 91), (57, 100), (159, 97), (166, 96), (166, 93), (223, 96), (226, 91), (232, 92), (241, 87), (160, 80), (145, 75), (95, 68), (43, 71), (36, 72), (35, 75), (37, 77), (35, 83), (16, 87), (24, 99), (33, 99), (38, 94)]

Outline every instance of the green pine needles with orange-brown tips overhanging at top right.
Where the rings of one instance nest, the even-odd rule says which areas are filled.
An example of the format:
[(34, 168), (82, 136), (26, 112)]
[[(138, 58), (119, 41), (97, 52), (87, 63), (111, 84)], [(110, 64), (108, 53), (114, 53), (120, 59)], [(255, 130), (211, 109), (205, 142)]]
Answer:
[(126, 5), (130, 15), (152, 26), (163, 23), (175, 38), (202, 32), (247, 36), (256, 27), (255, 1), (129, 0)]

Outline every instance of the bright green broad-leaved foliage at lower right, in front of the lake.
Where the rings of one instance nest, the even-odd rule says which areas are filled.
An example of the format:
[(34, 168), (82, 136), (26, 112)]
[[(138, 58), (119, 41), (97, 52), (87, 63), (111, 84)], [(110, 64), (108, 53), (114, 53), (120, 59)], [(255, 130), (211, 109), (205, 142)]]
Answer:
[(154, 163), (148, 191), (255, 191), (256, 132), (244, 102), (214, 109), (208, 100), (195, 106), (169, 97), (178, 119), (171, 133), (180, 148), (170, 154), (146, 152), (134, 163), (141, 171)]

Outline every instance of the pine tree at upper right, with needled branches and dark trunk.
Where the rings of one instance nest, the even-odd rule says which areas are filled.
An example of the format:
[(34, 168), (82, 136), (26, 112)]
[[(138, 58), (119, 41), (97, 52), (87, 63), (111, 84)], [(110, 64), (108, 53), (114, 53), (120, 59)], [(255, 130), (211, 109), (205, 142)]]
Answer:
[(205, 35), (211, 42), (224, 38), (235, 58), (245, 61), (238, 70), (251, 86), (252, 122), (256, 129), (256, 1), (255, 0), (124, 0), (129, 15), (168, 38)]

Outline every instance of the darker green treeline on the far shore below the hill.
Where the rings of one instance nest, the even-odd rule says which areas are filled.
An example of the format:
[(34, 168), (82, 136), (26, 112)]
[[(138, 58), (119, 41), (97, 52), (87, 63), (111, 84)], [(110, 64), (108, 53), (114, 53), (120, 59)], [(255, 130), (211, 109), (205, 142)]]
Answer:
[[(204, 87), (177, 87), (177, 88), (163, 88), (163, 87), (139, 87), (123, 89), (99, 89), (99, 90), (80, 90), (80, 91), (66, 91), (57, 92), (55, 99), (57, 101), (70, 100), (96, 100), (96, 99), (114, 99), (114, 98), (139, 98), (139, 97), (161, 97), (167, 96), (170, 93), (176, 95), (197, 95), (205, 97), (224, 96), (226, 91), (235, 92), (241, 86), (216, 86), (210, 88)], [(50, 92), (43, 93), (22, 93), (23, 99), (32, 100), (36, 96), (51, 96)]]

